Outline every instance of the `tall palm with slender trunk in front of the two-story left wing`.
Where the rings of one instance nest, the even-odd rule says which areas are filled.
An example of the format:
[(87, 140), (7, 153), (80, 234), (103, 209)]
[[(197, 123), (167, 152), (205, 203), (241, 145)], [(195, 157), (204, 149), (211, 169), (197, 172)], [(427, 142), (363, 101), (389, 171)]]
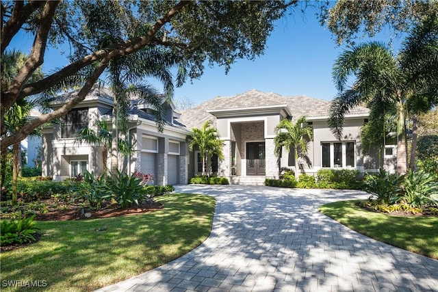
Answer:
[[(143, 36), (149, 27), (146, 23), (127, 25), (128, 17), (123, 3), (119, 1), (103, 1), (88, 5), (83, 11), (86, 14), (87, 25), (83, 29), (92, 47), (111, 46), (123, 40), (126, 35), (131, 38)], [(111, 15), (120, 15), (114, 19)], [(99, 31), (99, 34), (96, 34)], [(123, 55), (112, 59), (108, 65), (107, 81), (114, 95), (112, 112), (112, 146), (111, 172), (118, 169), (118, 135), (126, 134), (127, 118), (131, 98), (142, 98), (155, 109), (155, 121), (159, 131), (164, 128), (163, 98), (155, 88), (143, 82), (147, 77), (154, 77), (164, 85), (164, 94), (168, 100), (173, 96), (174, 84), (170, 68), (179, 66), (177, 70), (177, 85), (182, 85), (186, 77), (185, 62), (173, 49), (156, 49), (148, 47), (136, 53)]]

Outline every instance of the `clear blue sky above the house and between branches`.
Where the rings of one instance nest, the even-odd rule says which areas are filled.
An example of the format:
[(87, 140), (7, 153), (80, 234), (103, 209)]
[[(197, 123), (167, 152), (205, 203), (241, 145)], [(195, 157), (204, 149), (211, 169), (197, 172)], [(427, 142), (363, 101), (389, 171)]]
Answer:
[[(380, 36), (374, 39), (388, 41), (385, 32)], [(31, 42), (31, 36), (18, 34), (10, 48), (29, 53)], [(331, 100), (336, 94), (331, 76), (333, 62), (344, 49), (338, 47), (330, 31), (320, 25), (315, 10), (308, 9), (306, 14), (297, 12), (276, 22), (263, 55), (254, 61), (238, 60), (228, 75), (223, 67), (206, 67), (200, 79), (187, 81), (175, 90), (175, 99), (188, 99), (196, 105), (216, 96), (233, 96), (257, 89), (284, 96), (307, 95)], [(44, 61), (44, 72), (68, 63), (60, 51), (54, 49), (47, 51)], [(162, 89), (157, 81), (151, 83)]]

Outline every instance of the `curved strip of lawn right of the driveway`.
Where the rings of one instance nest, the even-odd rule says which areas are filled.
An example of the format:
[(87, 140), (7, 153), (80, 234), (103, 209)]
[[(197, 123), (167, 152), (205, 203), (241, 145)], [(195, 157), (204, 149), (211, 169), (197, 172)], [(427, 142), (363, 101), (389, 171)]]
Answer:
[(319, 210), (358, 233), (438, 259), (438, 217), (396, 217), (366, 211), (355, 202), (333, 202)]

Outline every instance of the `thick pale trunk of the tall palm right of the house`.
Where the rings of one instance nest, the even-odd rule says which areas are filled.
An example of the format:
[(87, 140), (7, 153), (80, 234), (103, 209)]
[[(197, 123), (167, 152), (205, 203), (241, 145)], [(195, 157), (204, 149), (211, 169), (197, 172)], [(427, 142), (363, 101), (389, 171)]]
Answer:
[(404, 124), (404, 107), (401, 98), (397, 101), (397, 175), (407, 172), (406, 125)]

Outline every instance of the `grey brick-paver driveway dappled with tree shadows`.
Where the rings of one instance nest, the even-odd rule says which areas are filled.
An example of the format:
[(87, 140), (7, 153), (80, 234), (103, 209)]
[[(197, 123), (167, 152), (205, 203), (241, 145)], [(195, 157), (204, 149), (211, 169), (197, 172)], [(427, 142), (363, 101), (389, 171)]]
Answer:
[(361, 191), (176, 189), (216, 198), (209, 238), (171, 263), (99, 291), (438, 291), (438, 261), (318, 213), (327, 202), (367, 198)]

